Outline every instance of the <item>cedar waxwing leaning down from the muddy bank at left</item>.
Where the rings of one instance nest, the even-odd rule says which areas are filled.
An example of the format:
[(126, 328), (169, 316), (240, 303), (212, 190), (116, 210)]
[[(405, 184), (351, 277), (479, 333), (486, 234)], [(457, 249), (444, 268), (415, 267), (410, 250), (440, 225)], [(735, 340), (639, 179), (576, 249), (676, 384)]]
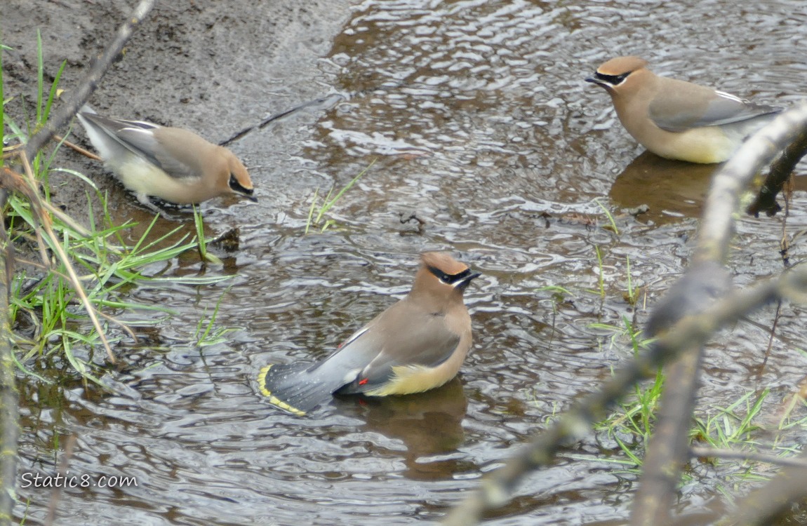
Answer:
[(146, 207), (156, 209), (149, 195), (179, 205), (224, 194), (257, 201), (247, 169), (224, 146), (178, 127), (102, 117), (89, 106), (77, 116), (107, 168)]

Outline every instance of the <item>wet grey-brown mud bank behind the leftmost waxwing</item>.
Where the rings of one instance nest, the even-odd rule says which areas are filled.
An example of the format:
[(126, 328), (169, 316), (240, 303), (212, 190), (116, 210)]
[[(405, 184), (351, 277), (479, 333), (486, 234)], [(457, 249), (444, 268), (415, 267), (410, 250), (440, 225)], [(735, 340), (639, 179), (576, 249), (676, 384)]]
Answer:
[[(220, 143), (330, 91), (320, 57), (331, 47), (329, 35), (341, 29), (348, 2), (156, 3), (90, 98), (96, 111), (186, 127)], [(46, 89), (64, 60), (60, 87), (67, 96), (134, 5), (2, 2), (2, 39), (12, 48), (3, 64), (6, 94), (15, 95), (7, 106), (10, 115), (27, 122), (36, 105), (37, 29), (42, 33)], [(268, 127), (230, 145), (249, 167), (267, 206), (275, 204), (272, 188), (299, 184), (299, 178), (284, 177), (278, 165), (296, 148), (300, 137), (295, 127), (310, 123), (315, 114), (300, 111), (285, 119), (282, 132)], [(76, 135), (77, 142), (87, 145), (82, 130)], [(102, 192), (120, 196), (115, 201), (126, 199), (97, 164), (65, 156), (61, 165), (89, 173)], [(70, 210), (82, 207), (86, 189), (77, 190), (57, 193), (56, 201)], [(139, 218), (136, 210), (132, 213)]]

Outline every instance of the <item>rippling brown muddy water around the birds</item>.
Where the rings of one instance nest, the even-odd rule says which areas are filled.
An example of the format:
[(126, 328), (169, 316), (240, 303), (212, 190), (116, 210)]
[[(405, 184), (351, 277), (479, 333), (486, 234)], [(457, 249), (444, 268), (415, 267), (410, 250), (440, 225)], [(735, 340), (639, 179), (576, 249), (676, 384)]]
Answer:
[[(805, 23), (795, 0), (356, 4), (312, 79), (343, 100), (233, 147), (260, 165), (261, 202), (212, 203), (206, 217), (214, 232), (240, 227), (238, 252), (224, 268), (153, 269), (232, 277), (132, 290), (132, 301), (176, 314), (141, 328), (145, 344), (119, 346), (127, 365), (105, 378), (118, 394), (21, 378), (23, 470), (52, 472), (74, 434), (72, 473), (136, 477), (137, 487), (66, 490), (59, 524), (437, 520), (629, 357), (624, 334), (592, 324), (641, 324), (643, 302), (692, 252), (713, 167), (640, 155), (607, 96), (583, 78), (609, 56), (640, 54), (658, 73), (784, 106), (807, 94)], [(284, 134), (300, 140), (278, 156)], [(275, 156), (259, 162), (264, 150)], [(339, 228), (303, 236), (314, 190), (344, 185), (372, 161), (332, 211)], [(629, 213), (640, 205), (649, 210)], [(805, 205), (796, 194), (792, 232), (807, 227)], [(422, 226), (405, 220), (413, 215)], [(738, 284), (780, 272), (780, 226), (742, 219), (730, 261)], [(466, 294), (475, 348), (460, 378), (412, 397), (337, 399), (304, 419), (261, 400), (262, 365), (324, 356), (406, 294), (426, 249), (483, 272)], [(796, 244), (792, 261), (804, 251)], [(624, 299), (628, 275), (638, 311)], [(199, 319), (218, 302), (215, 329), (226, 337), (198, 347)], [(772, 312), (756, 320), (769, 325)], [(124, 319), (137, 326), (148, 316)], [(792, 345), (805, 338), (801, 319), (797, 307), (783, 309), (788, 340), (774, 342), (761, 379), (761, 330), (739, 325), (713, 344), (701, 411), (760, 386), (774, 389), (778, 411), (803, 377), (805, 357)], [(597, 461), (611, 449), (608, 440), (575, 446), (590, 460), (562, 457), (491, 524), (618, 524), (635, 476)], [(719, 511), (715, 487), (708, 473), (688, 482), (680, 511)], [(32, 523), (50, 495), (20, 490)]]

